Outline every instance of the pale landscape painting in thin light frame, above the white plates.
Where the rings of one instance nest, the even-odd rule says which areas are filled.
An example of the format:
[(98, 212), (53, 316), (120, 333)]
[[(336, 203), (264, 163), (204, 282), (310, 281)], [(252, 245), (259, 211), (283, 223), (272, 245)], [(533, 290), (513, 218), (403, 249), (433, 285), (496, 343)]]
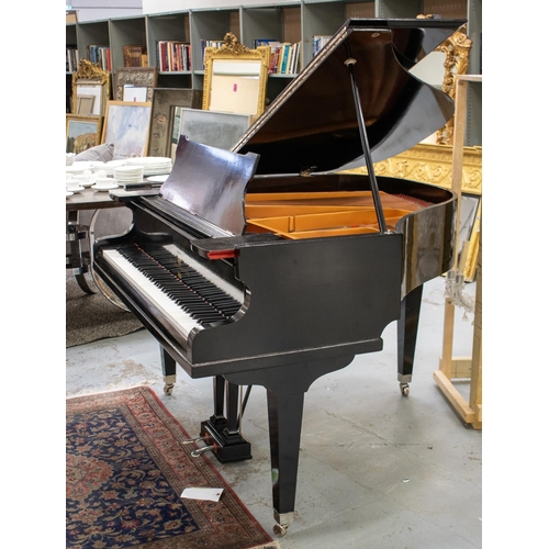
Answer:
[(101, 143), (114, 145), (113, 160), (147, 156), (152, 103), (109, 101)]

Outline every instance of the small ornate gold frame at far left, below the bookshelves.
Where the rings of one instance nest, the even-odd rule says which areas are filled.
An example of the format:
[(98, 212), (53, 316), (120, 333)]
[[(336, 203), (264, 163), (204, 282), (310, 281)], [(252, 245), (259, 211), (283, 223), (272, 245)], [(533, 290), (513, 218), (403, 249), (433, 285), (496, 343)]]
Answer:
[(81, 97), (93, 96), (93, 105), (90, 114), (104, 116), (107, 101), (111, 94), (111, 77), (109, 72), (87, 59), (80, 59), (78, 70), (72, 72), (72, 114), (79, 114), (78, 103)]

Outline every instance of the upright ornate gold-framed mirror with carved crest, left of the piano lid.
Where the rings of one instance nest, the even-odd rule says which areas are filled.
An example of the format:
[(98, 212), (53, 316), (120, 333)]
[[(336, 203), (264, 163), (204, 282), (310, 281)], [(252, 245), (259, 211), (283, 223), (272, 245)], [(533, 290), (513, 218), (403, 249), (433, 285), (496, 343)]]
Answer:
[(202, 109), (249, 114), (254, 121), (265, 110), (269, 59), (269, 46), (249, 49), (232, 33), (222, 47), (206, 47)]

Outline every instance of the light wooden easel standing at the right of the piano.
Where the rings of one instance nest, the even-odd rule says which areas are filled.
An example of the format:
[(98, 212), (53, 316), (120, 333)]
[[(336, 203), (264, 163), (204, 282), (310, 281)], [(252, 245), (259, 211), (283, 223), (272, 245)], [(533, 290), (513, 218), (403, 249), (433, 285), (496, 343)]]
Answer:
[[(457, 219), (460, 219), (461, 184), (463, 166), (463, 137), (466, 104), (469, 82), (481, 82), (481, 76), (456, 75), (456, 114), (453, 125), (452, 184), (458, 195)], [(459, 228), (456, 231), (456, 250), (459, 249)], [(464, 251), (464, 250), (463, 250)], [(453, 270), (458, 270), (458, 254), (455, 254)], [(439, 369), (434, 372), (435, 381), (467, 424), (482, 428), (482, 229), (479, 229), (479, 254), (477, 264), (477, 294), (472, 355), (470, 358), (452, 357), (453, 317), (456, 306), (450, 299), (445, 303), (442, 356)], [(469, 402), (452, 383), (455, 379), (469, 379)]]

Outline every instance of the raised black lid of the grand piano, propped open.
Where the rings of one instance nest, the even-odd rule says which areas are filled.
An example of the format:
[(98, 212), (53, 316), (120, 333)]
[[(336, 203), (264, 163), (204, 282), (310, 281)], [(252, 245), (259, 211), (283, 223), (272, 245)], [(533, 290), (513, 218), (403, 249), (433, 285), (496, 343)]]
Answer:
[(363, 156), (349, 58), (372, 160), (407, 150), (453, 115), (453, 101), (408, 69), (464, 23), (348, 20), (232, 150), (260, 155), (256, 175), (332, 171)]

